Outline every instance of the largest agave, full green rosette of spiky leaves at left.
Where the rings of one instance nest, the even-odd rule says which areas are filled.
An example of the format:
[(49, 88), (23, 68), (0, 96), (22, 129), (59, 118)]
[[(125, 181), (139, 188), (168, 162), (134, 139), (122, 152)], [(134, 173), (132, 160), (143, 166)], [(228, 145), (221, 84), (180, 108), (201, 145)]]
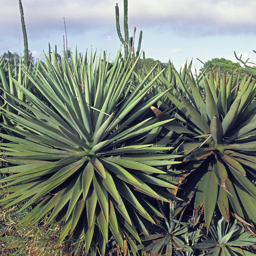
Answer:
[(167, 166), (178, 162), (175, 155), (161, 154), (170, 147), (147, 139), (169, 120), (137, 120), (166, 93), (144, 100), (160, 74), (144, 86), (149, 73), (134, 88), (136, 63), (122, 69), (119, 51), (110, 68), (106, 54), (98, 62), (95, 56), (88, 62), (75, 51), (68, 62), (64, 51), (59, 62), (53, 52), (54, 65), (45, 56), (36, 75), (22, 65), (43, 101), (14, 78), (27, 102), (3, 89), (16, 113), (1, 108), (8, 121), (1, 124), (8, 141), (0, 144), (8, 156), (2, 160), (13, 166), (0, 171), (14, 174), (1, 180), (10, 195), (0, 205), (24, 202), (19, 212), (33, 207), (19, 225), (33, 225), (50, 213), (48, 223), (63, 221), (60, 243), (75, 232), (84, 237), (86, 252), (97, 245), (104, 255), (110, 235), (121, 247), (125, 238), (136, 249), (133, 239), (140, 242), (138, 231), (146, 232), (144, 219), (155, 223), (152, 215), (162, 217), (151, 201), (177, 198), (166, 190), (176, 183), (164, 177), (174, 174)]

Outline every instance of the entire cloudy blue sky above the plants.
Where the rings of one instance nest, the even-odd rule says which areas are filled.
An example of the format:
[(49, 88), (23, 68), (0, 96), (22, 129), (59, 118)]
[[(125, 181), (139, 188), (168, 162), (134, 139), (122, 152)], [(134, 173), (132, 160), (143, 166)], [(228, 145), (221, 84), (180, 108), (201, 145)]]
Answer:
[[(28, 47), (43, 60), (48, 43), (63, 49), (65, 17), (68, 47), (107, 50), (115, 58), (121, 45), (115, 27), (115, 5), (120, 8), (122, 29), (123, 0), (22, 0)], [(23, 54), (24, 43), (18, 0), (0, 0), (0, 55), (7, 50)], [(179, 69), (193, 59), (213, 58), (256, 62), (255, 0), (128, 0), (129, 36), (136, 26), (135, 46), (143, 31), (141, 49), (146, 58), (169, 61)], [(123, 32), (122, 32), (123, 33)], [(136, 40), (137, 39), (137, 40)]]

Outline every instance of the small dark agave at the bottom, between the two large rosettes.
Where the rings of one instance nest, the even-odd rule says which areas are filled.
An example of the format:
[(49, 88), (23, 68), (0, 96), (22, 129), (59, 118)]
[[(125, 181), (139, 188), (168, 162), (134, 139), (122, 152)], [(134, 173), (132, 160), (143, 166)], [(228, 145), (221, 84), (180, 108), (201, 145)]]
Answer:
[(142, 244), (138, 245), (138, 250), (142, 250), (143, 255), (150, 256), (192, 256), (194, 250), (190, 245), (196, 244), (200, 235), (200, 229), (196, 228), (198, 218), (191, 218), (186, 222), (175, 219), (174, 212), (176, 202), (169, 204), (159, 203), (158, 209), (165, 217), (158, 219), (158, 230), (141, 236)]

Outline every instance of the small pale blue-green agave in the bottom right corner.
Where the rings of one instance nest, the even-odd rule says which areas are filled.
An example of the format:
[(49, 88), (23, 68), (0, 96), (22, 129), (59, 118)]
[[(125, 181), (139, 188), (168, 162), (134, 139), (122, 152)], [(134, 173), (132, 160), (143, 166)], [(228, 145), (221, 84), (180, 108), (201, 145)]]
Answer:
[(207, 232), (202, 228), (205, 239), (202, 243), (192, 245), (193, 248), (207, 251), (205, 256), (253, 256), (245, 246), (256, 244), (256, 238), (244, 231), (244, 227), (237, 223), (237, 220), (230, 225), (222, 217), (212, 219), (211, 226)]

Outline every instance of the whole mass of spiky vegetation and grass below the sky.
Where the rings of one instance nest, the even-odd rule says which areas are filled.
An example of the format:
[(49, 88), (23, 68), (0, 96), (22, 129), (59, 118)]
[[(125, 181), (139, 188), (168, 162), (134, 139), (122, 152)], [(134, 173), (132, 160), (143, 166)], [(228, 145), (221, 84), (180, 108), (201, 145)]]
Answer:
[(141, 58), (116, 17), (112, 62), (0, 59), (1, 255), (255, 255), (256, 80)]

